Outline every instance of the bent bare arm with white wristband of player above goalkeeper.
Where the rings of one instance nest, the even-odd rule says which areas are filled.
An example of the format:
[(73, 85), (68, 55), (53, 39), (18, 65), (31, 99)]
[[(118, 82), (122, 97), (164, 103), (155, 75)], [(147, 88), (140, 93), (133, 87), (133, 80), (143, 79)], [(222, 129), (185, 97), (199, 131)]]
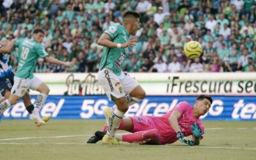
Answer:
[(102, 45), (104, 47), (109, 47), (109, 48), (126, 48), (129, 46), (134, 46), (135, 45), (134, 43), (136, 43), (136, 42), (138, 42), (138, 38), (132, 37), (124, 44), (117, 44), (115, 42), (111, 42), (111, 37), (108, 34), (103, 33), (100, 36), (97, 44)]

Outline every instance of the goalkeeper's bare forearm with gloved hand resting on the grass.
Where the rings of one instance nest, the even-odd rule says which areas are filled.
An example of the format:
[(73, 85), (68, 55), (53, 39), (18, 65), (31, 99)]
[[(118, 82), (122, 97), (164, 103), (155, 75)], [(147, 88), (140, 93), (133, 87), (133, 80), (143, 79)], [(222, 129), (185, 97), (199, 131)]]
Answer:
[(187, 145), (195, 145), (195, 142), (193, 140), (188, 140), (187, 138), (185, 138), (184, 134), (182, 134), (182, 132), (180, 131), (178, 123), (178, 119), (180, 118), (180, 116), (181, 115), (179, 111), (173, 111), (172, 115), (170, 115), (168, 118), (171, 127), (175, 132), (177, 132), (177, 138), (179, 138), (179, 141), (181, 141), (182, 143), (186, 143)]

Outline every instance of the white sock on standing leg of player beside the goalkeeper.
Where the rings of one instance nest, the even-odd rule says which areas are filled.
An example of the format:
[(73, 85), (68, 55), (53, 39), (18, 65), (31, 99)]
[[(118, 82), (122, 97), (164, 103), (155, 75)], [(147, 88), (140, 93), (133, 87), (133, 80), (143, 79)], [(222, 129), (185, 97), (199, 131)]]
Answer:
[(125, 113), (123, 113), (122, 111), (115, 109), (112, 116), (109, 118), (108, 131), (106, 133), (106, 135), (109, 138), (113, 138), (115, 136), (117, 128), (120, 125), (120, 122), (121, 122), (122, 118), (124, 117), (124, 114)]

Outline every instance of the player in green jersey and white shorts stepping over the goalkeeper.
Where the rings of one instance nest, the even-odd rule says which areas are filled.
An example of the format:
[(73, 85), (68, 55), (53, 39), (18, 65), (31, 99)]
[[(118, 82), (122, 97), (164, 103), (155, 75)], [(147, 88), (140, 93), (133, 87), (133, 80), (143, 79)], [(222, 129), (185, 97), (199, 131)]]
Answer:
[(136, 35), (140, 29), (139, 22), (140, 13), (125, 12), (123, 24), (109, 26), (98, 40), (98, 44), (104, 46), (98, 72), (99, 84), (109, 100), (116, 104), (109, 118), (108, 131), (102, 139), (104, 143), (118, 144), (114, 135), (125, 112), (129, 106), (145, 97), (145, 91), (138, 82), (122, 71), (122, 63), (129, 54), (129, 47), (138, 42), (138, 38), (130, 38), (130, 35)]

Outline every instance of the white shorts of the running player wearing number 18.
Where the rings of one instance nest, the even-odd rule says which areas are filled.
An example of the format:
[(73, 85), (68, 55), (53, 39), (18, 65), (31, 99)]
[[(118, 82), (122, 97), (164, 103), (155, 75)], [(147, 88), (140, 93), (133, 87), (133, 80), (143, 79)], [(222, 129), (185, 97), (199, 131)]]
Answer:
[(42, 83), (43, 81), (36, 76), (34, 76), (32, 79), (24, 79), (14, 76), (14, 84), (12, 86), (11, 93), (13, 95), (23, 97), (28, 89), (36, 90)]

